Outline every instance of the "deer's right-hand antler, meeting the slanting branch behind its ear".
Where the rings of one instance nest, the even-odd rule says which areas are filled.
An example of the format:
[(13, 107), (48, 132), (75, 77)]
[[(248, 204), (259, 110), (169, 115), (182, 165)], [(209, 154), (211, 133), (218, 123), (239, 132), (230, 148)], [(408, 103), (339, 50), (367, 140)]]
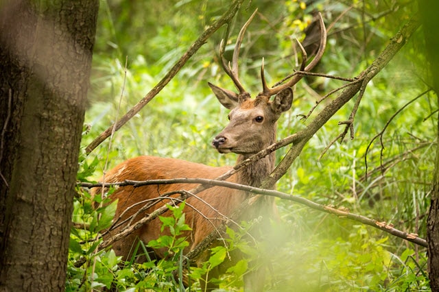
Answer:
[[(319, 16), (319, 21), (320, 21), (320, 46), (318, 48), (316, 56), (313, 58), (311, 63), (309, 63), (308, 66), (305, 66), (305, 62), (307, 61), (306, 60), (307, 53), (305, 52), (305, 49), (303, 49), (300, 42), (298, 42), (300, 50), (302, 51), (302, 55), (303, 55), (303, 60), (302, 60), (301, 66), (300, 66), (300, 71), (311, 71), (311, 69), (313, 69), (316, 66), (316, 64), (320, 61), (320, 59), (322, 59), (324, 49), (327, 47), (327, 29), (324, 26), (322, 14), (320, 12), (318, 13), (318, 16)], [(292, 77), (291, 80), (289, 80), (289, 82), (287, 82), (285, 84), (281, 84), (281, 85), (275, 86), (273, 88), (263, 88), (262, 94), (270, 97), (272, 95), (275, 95), (276, 93), (281, 92), (282, 90), (284, 90), (287, 87), (294, 86), (294, 84), (296, 84), (300, 79), (302, 79), (302, 75), (295, 75), (294, 77)], [(265, 80), (263, 80), (263, 82), (265, 82)]]

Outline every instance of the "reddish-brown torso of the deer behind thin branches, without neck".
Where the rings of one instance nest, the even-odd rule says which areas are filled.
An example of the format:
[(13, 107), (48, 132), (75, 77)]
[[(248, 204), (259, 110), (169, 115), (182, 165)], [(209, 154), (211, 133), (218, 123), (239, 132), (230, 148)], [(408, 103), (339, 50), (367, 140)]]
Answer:
[[(154, 156), (139, 156), (122, 162), (120, 165), (109, 171), (106, 175), (106, 182), (121, 182), (123, 180), (156, 180), (171, 178), (208, 178), (214, 179), (228, 171), (230, 167), (209, 167), (194, 162), (178, 160), (172, 158), (160, 158)], [(230, 182), (237, 181), (237, 175), (233, 175), (228, 179)], [(111, 200), (118, 200), (115, 223), (121, 222), (128, 217), (134, 215), (139, 208), (148, 202), (152, 202), (161, 195), (178, 190), (190, 190), (196, 184), (161, 184), (148, 186), (123, 186), (118, 188), (111, 195)], [(99, 193), (99, 188), (94, 188), (93, 193)], [(172, 195), (169, 199), (163, 200), (168, 204), (173, 204)], [(246, 193), (230, 188), (215, 186), (206, 191), (198, 193), (195, 197), (187, 199), (185, 207), (186, 223), (192, 228), (183, 236), (187, 237), (189, 247), (191, 248), (202, 239), (204, 239), (214, 228), (226, 220), (222, 215), (230, 214), (231, 210), (241, 203), (246, 197)], [(163, 206), (163, 202), (152, 206), (145, 210), (141, 215), (137, 216), (133, 222), (147, 216), (152, 211)], [(163, 216), (169, 216), (170, 212)], [(104, 239), (117, 234), (125, 224), (110, 230), (104, 235)], [(112, 247), (118, 256), (130, 258), (132, 249), (138, 239), (144, 243), (148, 243), (153, 239), (158, 239), (163, 233), (161, 232), (161, 221), (152, 220), (138, 230), (135, 230), (129, 236), (113, 243)], [(165, 232), (166, 234), (166, 232)], [(156, 250), (159, 257), (164, 256), (163, 250)]]

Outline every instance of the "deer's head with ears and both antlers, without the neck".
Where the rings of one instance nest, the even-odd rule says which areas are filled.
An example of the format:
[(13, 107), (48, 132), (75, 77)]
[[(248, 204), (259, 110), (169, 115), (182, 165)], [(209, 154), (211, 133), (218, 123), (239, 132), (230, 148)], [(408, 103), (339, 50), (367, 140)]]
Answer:
[[(250, 19), (244, 24), (239, 32), (235, 50), (233, 51), (233, 65), (230, 67), (230, 62), (227, 64), (224, 58), (224, 41), (219, 46), (219, 56), (222, 59), (222, 66), (227, 75), (233, 80), (239, 93), (219, 88), (211, 83), (213, 93), (219, 102), (230, 111), (228, 119), (230, 123), (219, 133), (212, 141), (213, 147), (219, 153), (234, 152), (244, 156), (251, 156), (261, 151), (274, 143), (276, 139), (276, 121), (281, 117), (282, 112), (289, 110), (293, 101), (292, 86), (296, 84), (302, 75), (290, 75), (292, 77), (288, 82), (269, 88), (265, 82), (264, 65), (262, 60), (261, 66), (261, 80), (262, 91), (252, 99), (250, 94), (244, 89), (238, 77), (238, 58), (241, 42), (244, 38), (244, 33), (250, 22), (252, 21), (257, 10), (250, 16)], [(320, 16), (320, 47), (316, 53), (316, 57), (310, 64), (305, 66), (307, 56), (305, 49), (303, 49), (300, 42), (298, 45), (302, 51), (302, 65), (301, 71), (310, 71), (322, 58), (324, 48), (326, 47), (326, 29), (322, 16)], [(284, 79), (287, 80), (288, 77)], [(270, 100), (272, 95), (275, 95), (273, 100)]]

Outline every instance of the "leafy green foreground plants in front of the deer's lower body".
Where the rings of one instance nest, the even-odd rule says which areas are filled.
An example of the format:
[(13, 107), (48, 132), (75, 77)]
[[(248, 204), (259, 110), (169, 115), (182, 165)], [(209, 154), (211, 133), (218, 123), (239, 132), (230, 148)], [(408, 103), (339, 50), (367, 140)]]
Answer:
[[(88, 165), (83, 165), (79, 177), (89, 171)], [(110, 195), (112, 191), (108, 192)], [(73, 221), (75, 227), (71, 230), (69, 244), (69, 266), (67, 273), (67, 291), (89, 291), (90, 289), (117, 289), (119, 291), (184, 291), (182, 279), (183, 273), (189, 271), (189, 283), (196, 289), (198, 281), (204, 279), (210, 271), (223, 263), (226, 255), (233, 249), (217, 246), (211, 249), (211, 256), (202, 267), (185, 266), (184, 251), (189, 245), (184, 232), (191, 230), (185, 223), (185, 202), (178, 206), (167, 205), (171, 211), (170, 217), (158, 217), (162, 222), (161, 231), (164, 232), (158, 239), (154, 239), (144, 245), (142, 242), (134, 248), (132, 259), (126, 262), (116, 256), (113, 250), (97, 251), (99, 243), (98, 232), (110, 227), (115, 216), (117, 201), (109, 203), (108, 199), (100, 199), (99, 196), (91, 197), (86, 191), (78, 188), (80, 199), (75, 200)], [(102, 203), (102, 204), (101, 204)], [(100, 204), (99, 208), (93, 208)], [(170, 235), (167, 235), (169, 232)], [(241, 230), (235, 235), (233, 230), (228, 230), (231, 247), (247, 246), (246, 243), (237, 243), (237, 240), (246, 234), (247, 230)], [(151, 258), (148, 248), (165, 250), (164, 258)], [(249, 248), (247, 247), (247, 250)], [(136, 256), (145, 256), (143, 263), (135, 261)], [(82, 265), (76, 265), (84, 259)], [(242, 276), (247, 271), (247, 261), (240, 260), (230, 267), (222, 279), (213, 281), (225, 287), (233, 289), (241, 284)], [(191, 291), (191, 288), (189, 288)], [(231, 290), (230, 290), (231, 291)]]

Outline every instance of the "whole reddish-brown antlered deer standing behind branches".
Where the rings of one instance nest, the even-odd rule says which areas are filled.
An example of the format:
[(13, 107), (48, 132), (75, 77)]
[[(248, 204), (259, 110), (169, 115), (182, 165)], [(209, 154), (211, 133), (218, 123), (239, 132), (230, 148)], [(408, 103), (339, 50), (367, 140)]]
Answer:
[[(222, 60), (222, 67), (225, 73), (235, 84), (238, 93), (225, 88), (220, 88), (214, 84), (208, 83), (213, 94), (217, 97), (222, 106), (230, 110), (228, 125), (224, 130), (213, 138), (212, 146), (220, 154), (228, 154), (233, 152), (238, 154), (237, 164), (257, 154), (259, 151), (269, 147), (276, 142), (276, 122), (283, 112), (287, 112), (292, 106), (293, 90), (300, 75), (295, 75), (289, 81), (280, 83), (273, 87), (268, 87), (265, 82), (264, 65), (261, 65), (261, 82), (262, 91), (256, 97), (251, 98), (250, 93), (244, 89), (244, 86), (239, 81), (238, 75), (238, 58), (241, 42), (244, 38), (246, 28), (252, 21), (255, 11), (250, 19), (241, 28), (235, 49), (233, 52), (232, 66), (230, 62), (227, 64), (224, 58), (224, 41), (219, 45), (219, 56)], [(326, 46), (326, 29), (320, 15), (320, 49), (316, 53), (313, 60), (305, 66), (306, 53), (302, 49), (300, 42), (299, 47), (302, 50), (302, 64), (301, 71), (310, 71), (322, 58)], [(270, 99), (274, 96), (274, 99)], [(265, 178), (270, 175), (275, 167), (274, 152), (257, 160), (248, 167), (233, 174), (227, 179), (228, 182), (235, 182), (237, 184), (244, 184), (248, 186), (261, 186)], [(174, 158), (161, 158), (154, 156), (139, 156), (131, 158), (117, 167), (111, 169), (105, 175), (105, 182), (123, 182), (125, 180), (156, 180), (156, 179), (172, 179), (172, 178), (206, 178), (215, 179), (220, 175), (229, 171), (232, 167), (211, 167), (202, 165), (200, 163), (189, 162), (185, 160), (178, 160)], [(141, 208), (141, 202), (149, 202), (153, 199), (161, 197), (165, 193), (175, 192), (178, 190), (191, 190), (197, 184), (159, 184), (147, 185), (134, 188), (133, 186), (123, 186), (117, 188), (114, 193), (110, 195), (110, 200), (114, 202), (117, 200), (117, 210), (115, 218), (125, 220), (134, 215), (137, 210)], [(102, 191), (100, 188), (93, 188), (92, 193), (97, 194)], [(191, 230), (185, 233), (189, 246), (186, 247), (185, 252), (193, 250), (209, 233), (211, 233), (215, 226), (219, 226), (224, 220), (219, 216), (230, 215), (236, 206), (244, 202), (251, 194), (246, 191), (239, 191), (238, 189), (226, 188), (222, 186), (213, 186), (208, 188), (196, 196), (187, 198), (187, 206), (185, 208), (185, 221), (190, 226)], [(158, 206), (152, 206), (145, 210), (143, 215), (150, 214), (156, 210)], [(273, 197), (261, 196), (255, 204), (251, 206), (252, 210), (246, 210), (246, 218), (257, 217), (262, 215), (264, 219), (276, 218), (277, 209)], [(167, 212), (169, 213), (169, 212)], [(165, 216), (169, 214), (165, 213)], [(140, 217), (134, 219), (134, 222)], [(117, 233), (123, 228), (118, 226), (113, 230), (104, 234), (104, 240)], [(112, 244), (112, 249), (115, 250), (117, 256), (123, 256), (128, 259), (132, 256), (132, 247), (135, 242), (142, 241), (148, 243), (153, 239), (157, 239), (163, 234), (161, 232), (161, 222), (152, 220), (141, 228), (132, 232), (129, 236), (123, 237), (119, 241)], [(165, 257), (164, 250), (153, 250), (154, 256), (157, 258)], [(207, 252), (209, 256), (209, 252)], [(205, 259), (204, 256), (200, 258)], [(200, 264), (200, 259), (198, 260)], [(219, 273), (222, 273), (219, 265), (215, 273), (211, 271), (209, 278), (203, 280), (200, 285), (203, 291), (211, 291), (218, 288), (217, 285), (211, 282), (211, 278), (215, 278)], [(263, 291), (264, 268), (251, 269), (244, 274), (244, 291)], [(201, 282), (201, 281), (200, 281)]]

